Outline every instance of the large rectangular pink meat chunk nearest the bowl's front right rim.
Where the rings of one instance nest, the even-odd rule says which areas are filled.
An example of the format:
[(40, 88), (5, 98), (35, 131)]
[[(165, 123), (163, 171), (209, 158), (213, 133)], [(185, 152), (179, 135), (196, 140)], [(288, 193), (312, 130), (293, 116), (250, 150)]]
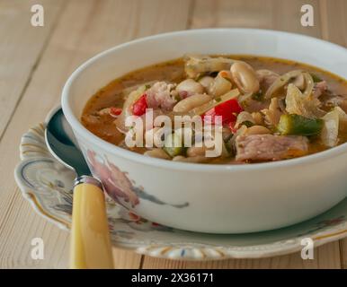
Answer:
[(280, 161), (307, 154), (305, 136), (239, 135), (236, 161)]

